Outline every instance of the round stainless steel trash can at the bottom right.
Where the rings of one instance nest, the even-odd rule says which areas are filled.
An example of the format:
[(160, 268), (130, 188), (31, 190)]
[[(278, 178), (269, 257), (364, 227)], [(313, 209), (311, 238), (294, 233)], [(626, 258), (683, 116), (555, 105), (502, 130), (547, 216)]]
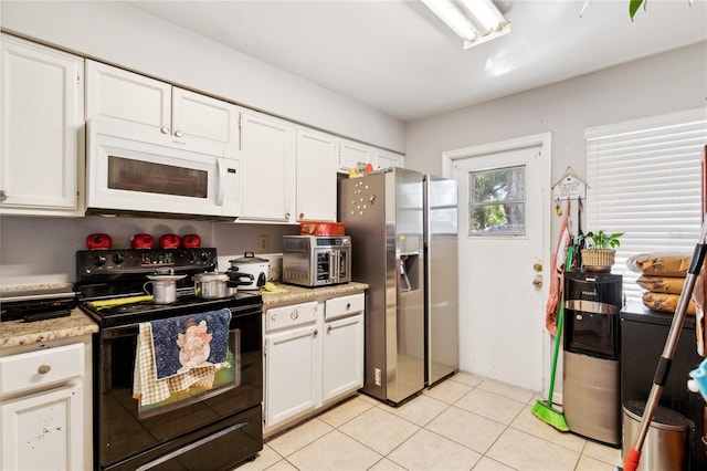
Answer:
[[(645, 401), (623, 404), (623, 446), (625, 459), (641, 430)], [(686, 470), (689, 437), (695, 426), (682, 414), (658, 406), (641, 448), (639, 471)]]

